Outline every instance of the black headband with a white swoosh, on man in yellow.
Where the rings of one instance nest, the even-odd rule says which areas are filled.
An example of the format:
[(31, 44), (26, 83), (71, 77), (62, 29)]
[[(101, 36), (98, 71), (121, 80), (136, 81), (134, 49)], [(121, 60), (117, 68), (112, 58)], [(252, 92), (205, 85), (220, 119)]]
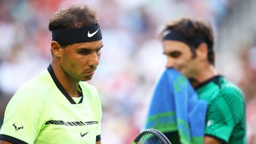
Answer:
[(57, 41), (60, 44), (84, 43), (101, 39), (102, 36), (99, 24), (52, 31), (52, 40)]

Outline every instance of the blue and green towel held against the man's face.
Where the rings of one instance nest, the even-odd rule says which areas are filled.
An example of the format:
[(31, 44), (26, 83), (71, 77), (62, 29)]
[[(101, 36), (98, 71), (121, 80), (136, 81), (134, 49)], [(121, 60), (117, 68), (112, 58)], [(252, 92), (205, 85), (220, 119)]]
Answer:
[(203, 143), (207, 102), (199, 100), (185, 76), (166, 69), (156, 83), (144, 129), (178, 131), (183, 144)]

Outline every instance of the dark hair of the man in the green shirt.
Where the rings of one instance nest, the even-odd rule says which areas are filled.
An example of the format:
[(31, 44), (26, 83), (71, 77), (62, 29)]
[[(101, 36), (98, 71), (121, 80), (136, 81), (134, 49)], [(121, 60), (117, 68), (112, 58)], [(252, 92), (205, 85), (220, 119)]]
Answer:
[[(165, 25), (165, 28), (161, 31), (159, 36), (161, 40), (164, 37), (164, 32), (167, 30), (180, 31), (187, 39), (194, 39), (198, 34), (203, 35), (208, 42), (207, 59), (212, 65), (215, 65), (213, 28), (209, 23), (199, 19), (180, 18)], [(196, 56), (195, 50), (197, 47), (193, 47), (191, 44), (188, 44), (188, 46), (190, 47), (193, 55)]]

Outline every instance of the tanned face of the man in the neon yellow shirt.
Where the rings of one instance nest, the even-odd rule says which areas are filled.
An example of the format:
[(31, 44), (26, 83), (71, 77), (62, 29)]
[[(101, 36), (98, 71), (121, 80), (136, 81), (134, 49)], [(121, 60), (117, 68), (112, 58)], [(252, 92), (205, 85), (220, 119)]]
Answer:
[(92, 78), (101, 56), (103, 41), (75, 43), (61, 48), (60, 66), (67, 78), (88, 81)]

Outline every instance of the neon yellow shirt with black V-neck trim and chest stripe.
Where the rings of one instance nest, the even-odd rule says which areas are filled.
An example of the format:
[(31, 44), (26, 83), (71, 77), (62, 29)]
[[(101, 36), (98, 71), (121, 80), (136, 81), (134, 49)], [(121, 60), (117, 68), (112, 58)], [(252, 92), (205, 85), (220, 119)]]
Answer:
[(80, 82), (75, 101), (52, 67), (22, 85), (5, 110), (0, 139), (12, 143), (95, 143), (100, 140), (101, 104), (97, 89)]

